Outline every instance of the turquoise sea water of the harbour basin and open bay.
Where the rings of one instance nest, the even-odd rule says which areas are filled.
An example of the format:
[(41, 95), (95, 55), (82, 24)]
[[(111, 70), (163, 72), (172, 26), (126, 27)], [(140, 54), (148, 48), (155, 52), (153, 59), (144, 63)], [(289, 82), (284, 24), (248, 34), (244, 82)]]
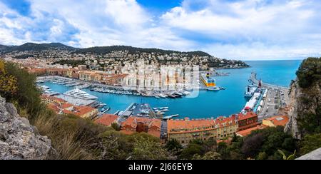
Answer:
[[(179, 114), (180, 118), (210, 118), (230, 116), (239, 113), (246, 103), (245, 88), (248, 85), (250, 73), (255, 71), (258, 78), (265, 83), (279, 86), (289, 86), (295, 79), (295, 71), (301, 61), (246, 61), (251, 67), (241, 69), (220, 70), (229, 72), (230, 76), (216, 77), (218, 86), (227, 88), (225, 91), (200, 91), (196, 98), (148, 98), (142, 96), (126, 96), (109, 93), (98, 93), (85, 89), (84, 91), (97, 96), (103, 103), (111, 107), (109, 113), (125, 110), (131, 103), (149, 103), (153, 108), (168, 106), (168, 115)], [(71, 90), (66, 86), (46, 82), (52, 91), (60, 93)]]

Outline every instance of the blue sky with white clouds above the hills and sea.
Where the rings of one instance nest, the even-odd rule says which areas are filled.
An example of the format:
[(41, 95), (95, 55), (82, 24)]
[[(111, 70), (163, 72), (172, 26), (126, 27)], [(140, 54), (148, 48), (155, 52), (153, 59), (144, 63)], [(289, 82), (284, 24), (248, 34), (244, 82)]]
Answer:
[(321, 56), (320, 9), (320, 0), (0, 0), (0, 44), (298, 59)]

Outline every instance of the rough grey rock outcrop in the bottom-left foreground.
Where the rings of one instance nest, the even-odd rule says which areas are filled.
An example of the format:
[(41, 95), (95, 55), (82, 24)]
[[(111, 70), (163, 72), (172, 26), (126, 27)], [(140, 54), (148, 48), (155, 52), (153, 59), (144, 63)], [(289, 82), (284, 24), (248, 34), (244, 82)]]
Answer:
[(26, 118), (21, 118), (12, 103), (0, 96), (0, 160), (44, 160), (51, 140), (41, 136)]

